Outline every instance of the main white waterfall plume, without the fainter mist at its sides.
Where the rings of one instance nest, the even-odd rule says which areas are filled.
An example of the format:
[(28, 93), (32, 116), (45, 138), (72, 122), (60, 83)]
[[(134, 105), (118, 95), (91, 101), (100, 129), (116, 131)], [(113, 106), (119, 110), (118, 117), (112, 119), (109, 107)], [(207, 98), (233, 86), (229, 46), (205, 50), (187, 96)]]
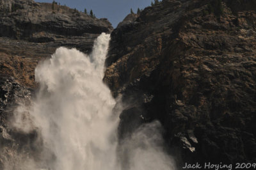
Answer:
[(56, 160), (52, 169), (114, 169), (115, 100), (102, 82), (109, 35), (97, 38), (90, 57), (59, 48), (35, 71), (40, 91), (33, 110), (45, 147)]

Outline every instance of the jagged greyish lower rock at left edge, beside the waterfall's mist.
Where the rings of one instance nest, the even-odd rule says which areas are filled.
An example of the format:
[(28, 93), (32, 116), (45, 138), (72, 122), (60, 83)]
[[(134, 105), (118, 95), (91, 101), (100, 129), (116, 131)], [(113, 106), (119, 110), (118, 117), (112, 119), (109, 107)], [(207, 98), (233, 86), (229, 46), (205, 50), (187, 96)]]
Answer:
[[(11, 128), (13, 112), (20, 104), (30, 104), (31, 90), (16, 82), (13, 77), (1, 77), (0, 84), (0, 169), (4, 169), (4, 164), (12, 164), (13, 160), (21, 161), (22, 157), (28, 157), (28, 153), (31, 154), (29, 157), (35, 157), (38, 147), (33, 145), (37, 138), (36, 131), (21, 133)], [(20, 116), (23, 116), (23, 120), (29, 119), (26, 113)], [(19, 167), (13, 165), (12, 169)]]

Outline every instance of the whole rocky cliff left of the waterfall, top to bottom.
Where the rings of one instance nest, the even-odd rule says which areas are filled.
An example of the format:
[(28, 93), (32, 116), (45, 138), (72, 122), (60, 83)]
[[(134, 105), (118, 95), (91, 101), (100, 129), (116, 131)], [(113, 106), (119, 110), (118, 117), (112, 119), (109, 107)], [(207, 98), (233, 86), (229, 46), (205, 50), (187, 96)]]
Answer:
[[(90, 52), (95, 38), (112, 29), (107, 19), (67, 6), (0, 0), (0, 169), (3, 163), (12, 165), (9, 169), (23, 168), (17, 166), (28, 157), (40, 160), (34, 154), (40, 146), (37, 132), (22, 133), (9, 123), (15, 107), (29, 105), (33, 97), (38, 61), (51, 57), (61, 46)], [(28, 112), (20, 116), (30, 121)]]

